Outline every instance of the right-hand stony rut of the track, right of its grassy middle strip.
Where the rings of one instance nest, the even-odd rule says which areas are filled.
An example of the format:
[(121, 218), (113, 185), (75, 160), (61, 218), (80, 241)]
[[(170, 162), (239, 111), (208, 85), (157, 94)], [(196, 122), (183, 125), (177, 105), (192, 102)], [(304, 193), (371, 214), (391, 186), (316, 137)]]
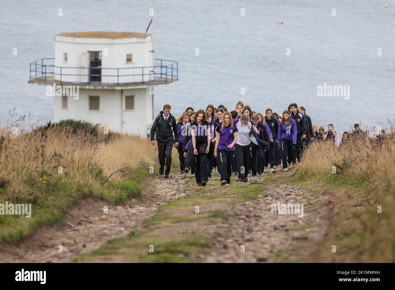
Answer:
[[(267, 187), (258, 201), (230, 209), (235, 215), (216, 228), (219, 235), (203, 262), (304, 262), (316, 251), (325, 234), (327, 197), (313, 196), (295, 185)], [(271, 205), (278, 201), (304, 204), (303, 217), (272, 215)]]

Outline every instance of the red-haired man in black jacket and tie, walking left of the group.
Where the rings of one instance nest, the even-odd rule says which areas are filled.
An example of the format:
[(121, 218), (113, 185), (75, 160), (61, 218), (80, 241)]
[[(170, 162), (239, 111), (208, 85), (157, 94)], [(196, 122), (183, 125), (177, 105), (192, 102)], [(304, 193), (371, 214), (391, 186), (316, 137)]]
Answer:
[[(178, 146), (178, 129), (175, 117), (170, 114), (170, 105), (164, 105), (163, 111), (159, 112), (151, 128), (151, 144), (155, 145), (154, 135), (156, 133), (156, 142), (158, 142), (158, 159), (159, 174), (165, 173), (165, 178), (169, 178), (171, 167), (171, 150)], [(174, 136), (173, 136), (174, 134)], [(166, 171), (164, 167), (166, 164)]]

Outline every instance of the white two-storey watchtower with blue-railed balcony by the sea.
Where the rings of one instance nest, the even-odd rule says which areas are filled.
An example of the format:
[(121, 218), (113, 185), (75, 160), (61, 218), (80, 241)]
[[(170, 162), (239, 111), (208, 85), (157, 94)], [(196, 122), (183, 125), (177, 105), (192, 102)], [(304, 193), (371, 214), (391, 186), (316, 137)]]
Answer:
[(154, 120), (153, 88), (177, 81), (178, 62), (154, 60), (151, 35), (134, 32), (58, 34), (55, 58), (32, 62), (29, 80), (63, 88), (53, 92), (53, 122), (85, 120), (141, 137)]

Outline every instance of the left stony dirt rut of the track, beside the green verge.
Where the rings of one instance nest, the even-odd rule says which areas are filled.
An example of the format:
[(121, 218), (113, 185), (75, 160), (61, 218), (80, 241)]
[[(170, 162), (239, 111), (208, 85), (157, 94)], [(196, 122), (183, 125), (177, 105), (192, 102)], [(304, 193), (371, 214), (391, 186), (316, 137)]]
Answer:
[[(41, 227), (21, 243), (0, 245), (0, 262), (71, 262), (111, 239), (127, 236), (132, 227), (154, 215), (161, 204), (187, 195), (185, 187), (182, 177), (165, 180), (155, 176), (145, 182), (138, 199), (122, 206), (105, 200), (82, 200), (62, 223)], [(104, 213), (104, 206), (108, 206), (108, 213)]]

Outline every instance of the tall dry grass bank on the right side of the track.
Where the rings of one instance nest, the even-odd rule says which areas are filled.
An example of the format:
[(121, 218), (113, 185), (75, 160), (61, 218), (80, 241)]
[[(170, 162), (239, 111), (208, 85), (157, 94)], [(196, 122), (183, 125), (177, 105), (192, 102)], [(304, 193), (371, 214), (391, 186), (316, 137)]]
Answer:
[[(332, 142), (311, 144), (303, 153), (296, 173), (299, 180), (329, 180), (357, 188), (353, 191), (357, 193), (353, 195), (353, 205), (348, 203), (350, 196), (337, 195), (340, 200), (332, 200), (335, 205), (343, 203), (343, 207), (350, 204), (346, 210), (333, 208), (336, 212), (333, 218), (338, 224), (332, 225), (331, 232), (338, 243), (342, 239), (343, 248), (354, 251), (346, 253), (348, 257), (356, 257), (351, 262), (395, 262), (394, 165), (394, 138), (378, 144), (365, 135), (357, 135), (340, 146)], [(333, 168), (336, 174), (332, 173)], [(382, 207), (382, 213), (377, 212), (378, 206)], [(337, 232), (339, 228), (346, 230)]]

